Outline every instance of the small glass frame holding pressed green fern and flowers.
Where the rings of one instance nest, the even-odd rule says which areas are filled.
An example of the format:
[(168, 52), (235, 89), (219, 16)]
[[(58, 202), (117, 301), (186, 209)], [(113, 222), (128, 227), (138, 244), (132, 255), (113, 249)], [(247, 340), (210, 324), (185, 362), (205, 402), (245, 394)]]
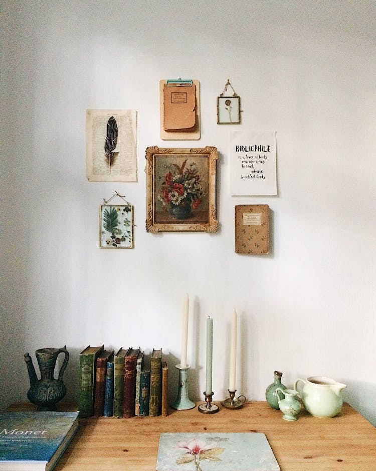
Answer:
[(133, 248), (133, 206), (131, 204), (101, 204), (99, 247), (101, 249)]

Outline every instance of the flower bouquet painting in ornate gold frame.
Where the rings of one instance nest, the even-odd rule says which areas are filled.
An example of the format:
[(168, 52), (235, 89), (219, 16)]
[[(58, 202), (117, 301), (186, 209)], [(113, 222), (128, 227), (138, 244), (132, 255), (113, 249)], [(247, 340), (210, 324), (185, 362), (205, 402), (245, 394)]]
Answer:
[(216, 232), (216, 147), (146, 149), (146, 230)]

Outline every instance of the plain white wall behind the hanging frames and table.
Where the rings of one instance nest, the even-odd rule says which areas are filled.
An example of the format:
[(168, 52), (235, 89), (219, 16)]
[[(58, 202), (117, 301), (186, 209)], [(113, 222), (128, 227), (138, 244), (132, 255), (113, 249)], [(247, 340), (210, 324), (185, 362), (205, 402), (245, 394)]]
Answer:
[[(23, 354), (67, 345), (68, 399), (87, 344), (162, 347), (171, 395), (183, 297), (191, 298), (190, 395), (204, 399), (214, 318), (214, 399), (228, 388), (239, 314), (238, 394), (263, 400), (274, 370), (327, 375), (376, 423), (375, 3), (5, 0), (2, 21), (1, 406), (25, 400)], [(158, 83), (201, 84), (200, 141), (161, 141)], [(232, 197), (230, 78), (239, 130), (275, 130), (278, 195)], [(85, 110), (138, 111), (138, 182), (89, 183)], [(145, 230), (145, 148), (216, 146), (217, 233)], [(135, 207), (133, 250), (98, 248), (114, 191)], [(234, 206), (272, 211), (269, 256), (234, 251)]]

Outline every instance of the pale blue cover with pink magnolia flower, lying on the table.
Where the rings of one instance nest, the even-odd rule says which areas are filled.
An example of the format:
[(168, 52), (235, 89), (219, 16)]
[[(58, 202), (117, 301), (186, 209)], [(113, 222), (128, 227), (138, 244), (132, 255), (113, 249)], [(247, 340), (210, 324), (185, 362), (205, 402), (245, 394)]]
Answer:
[(264, 433), (161, 433), (156, 471), (280, 471)]

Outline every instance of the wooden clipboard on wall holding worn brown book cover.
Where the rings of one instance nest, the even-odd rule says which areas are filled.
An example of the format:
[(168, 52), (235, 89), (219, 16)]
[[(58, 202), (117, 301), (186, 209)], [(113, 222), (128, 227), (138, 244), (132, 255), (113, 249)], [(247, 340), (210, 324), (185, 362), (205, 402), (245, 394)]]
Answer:
[(200, 82), (159, 81), (159, 124), (163, 140), (200, 139)]

